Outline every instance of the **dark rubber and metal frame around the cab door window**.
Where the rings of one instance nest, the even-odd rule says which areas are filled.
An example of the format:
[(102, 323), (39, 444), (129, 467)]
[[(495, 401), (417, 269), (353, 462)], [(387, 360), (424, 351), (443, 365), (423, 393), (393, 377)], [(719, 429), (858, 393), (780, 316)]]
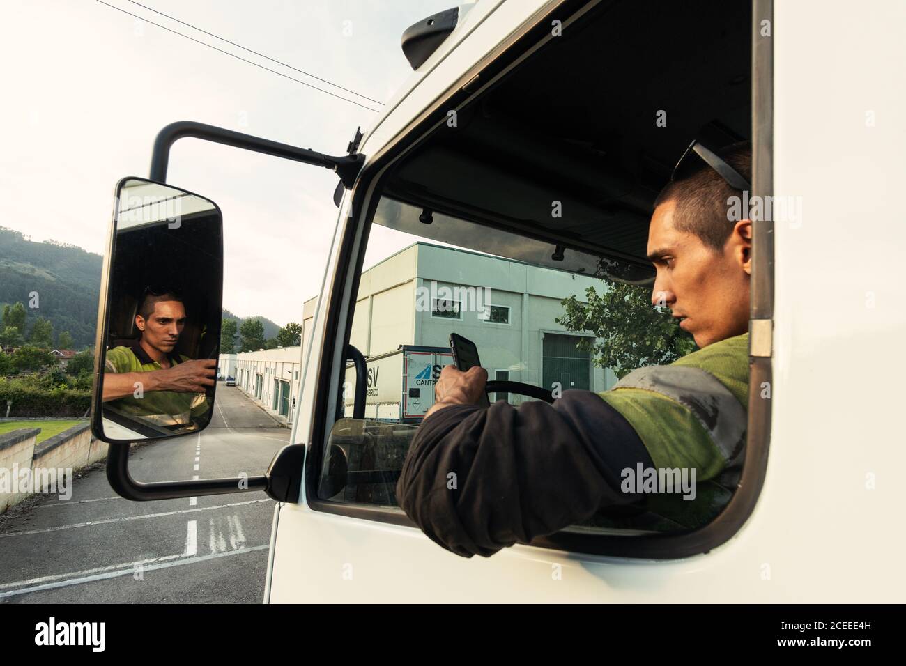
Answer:
[[(344, 376), (345, 349), (352, 333), (352, 314), (357, 298), (358, 282), (371, 231), (374, 213), (381, 199), (383, 183), (390, 176), (390, 165), (418, 146), (447, 120), (450, 109), (461, 110), (474, 96), (505, 75), (528, 55), (551, 39), (551, 20), (562, 20), (567, 27), (598, 2), (564, 0), (538, 17), (530, 26), (511, 35), (506, 43), (488, 54), (455, 82), (448, 93), (439, 97), (419, 118), (383, 147), (362, 169), (352, 192), (348, 217), (341, 220), (340, 246), (335, 270), (330, 275), (326, 293), (325, 321), (321, 354), (315, 369), (312, 439), (305, 456), (305, 502), (314, 511), (349, 516), (398, 526), (417, 527), (401, 510), (342, 504), (317, 496), (321, 481), (323, 455), (336, 414), (339, 382)], [(568, 10), (568, 11), (567, 11)], [(753, 0), (752, 10), (752, 148), (753, 196), (773, 194), (773, 84), (774, 54), (771, 38), (760, 38), (759, 25), (763, 20), (774, 22), (774, 0)], [(773, 31), (772, 31), (773, 34)], [(486, 82), (477, 87), (469, 82)], [(366, 145), (367, 148), (367, 145)], [(773, 222), (753, 225), (752, 296), (750, 317), (753, 320), (773, 318), (774, 306), (774, 246)], [(351, 305), (352, 304), (352, 305)], [(686, 532), (651, 535), (592, 534), (587, 532), (558, 532), (536, 538), (531, 545), (588, 555), (605, 555), (654, 560), (672, 560), (707, 553), (726, 543), (745, 524), (754, 510), (764, 485), (767, 453), (771, 431), (771, 405), (761, 400), (760, 386), (772, 381), (771, 355), (754, 357), (750, 349), (748, 440), (746, 457), (739, 486), (727, 507), (707, 525)]]

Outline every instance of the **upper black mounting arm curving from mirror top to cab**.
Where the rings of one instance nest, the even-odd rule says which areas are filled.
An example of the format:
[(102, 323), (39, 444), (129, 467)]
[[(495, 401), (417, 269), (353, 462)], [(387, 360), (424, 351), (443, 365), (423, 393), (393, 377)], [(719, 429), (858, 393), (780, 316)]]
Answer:
[(202, 139), (222, 143), (226, 146), (241, 148), (243, 150), (252, 150), (254, 152), (273, 155), (274, 157), (292, 159), (296, 162), (312, 164), (316, 167), (331, 169), (337, 173), (342, 181), (343, 187), (352, 189), (356, 177), (361, 171), (361, 166), (365, 161), (364, 155), (355, 153), (352, 155), (342, 155), (333, 157), (324, 155), (321, 152), (297, 148), (286, 143), (279, 143), (268, 139), (243, 134), (233, 130), (225, 130), (222, 127), (206, 125), (202, 122), (178, 121), (171, 122), (165, 128), (158, 132), (154, 140), (154, 151), (151, 154), (151, 172), (149, 178), (157, 180), (160, 183), (167, 182), (167, 167), (169, 165), (169, 150), (178, 139), (191, 137), (193, 139)]

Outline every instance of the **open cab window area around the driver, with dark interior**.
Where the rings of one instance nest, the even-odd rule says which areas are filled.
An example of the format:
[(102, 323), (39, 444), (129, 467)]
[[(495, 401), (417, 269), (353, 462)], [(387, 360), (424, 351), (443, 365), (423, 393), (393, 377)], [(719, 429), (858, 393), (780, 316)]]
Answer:
[[(609, 389), (613, 369), (594, 362), (593, 340), (564, 324), (564, 299), (581, 301), (588, 287), (650, 290), (645, 255), (652, 203), (690, 140), (719, 148), (755, 139), (756, 163), (769, 161), (769, 143), (759, 142), (764, 134), (753, 137), (753, 128), (769, 126), (770, 71), (753, 66), (753, 44), (762, 63), (769, 64), (770, 51), (753, 41), (750, 3), (590, 5), (574, 21), (546, 16), (538, 31), (500, 56), (511, 59), (511, 68), (504, 72), (496, 63), (499, 75), (479, 75), (489, 82), (485, 88), (462, 103), (441, 104), (432, 130), (411, 132), (419, 140), (387, 156), (393, 161), (383, 165), (377, 193), (362, 202), (371, 213), (357, 256), (350, 257), (350, 270), (358, 266), (346, 296), (351, 305), (328, 319), (328, 326), (345, 326), (345, 340), (364, 356), (366, 416), (351, 416), (361, 372), (345, 358), (325, 365), (323, 372), (342, 376), (347, 409), (333, 411), (335, 420), (316, 421), (313, 507), (408, 522), (394, 497), (418, 428), (407, 405), (419, 389), (419, 409), (427, 409), (437, 372), (416, 365), (410, 352), (418, 348), (437, 359), (449, 333), (477, 343), (489, 379), (506, 373), (545, 390), (554, 383)], [(770, 18), (769, 3), (758, 3), (755, 13)], [(552, 17), (563, 21), (559, 36), (547, 27)], [(756, 173), (756, 191), (769, 187), (764, 174), (759, 182)], [(769, 281), (764, 266), (754, 284)], [(439, 315), (442, 304), (456, 316)], [(494, 318), (507, 325), (488, 323)], [(394, 356), (399, 362), (390, 365)], [(760, 366), (759, 378), (769, 371), (769, 363)], [(413, 385), (417, 377), (426, 383)], [(763, 410), (749, 414), (750, 424), (758, 423), (750, 427), (747, 465), (763, 461), (767, 428)], [(726, 540), (754, 504), (763, 466), (743, 473), (755, 475), (755, 495), (747, 488), (732, 516), (738, 477), (699, 492), (703, 500), (691, 523), (671, 515), (670, 507), (602, 512), (537, 545), (654, 557), (702, 552)]]

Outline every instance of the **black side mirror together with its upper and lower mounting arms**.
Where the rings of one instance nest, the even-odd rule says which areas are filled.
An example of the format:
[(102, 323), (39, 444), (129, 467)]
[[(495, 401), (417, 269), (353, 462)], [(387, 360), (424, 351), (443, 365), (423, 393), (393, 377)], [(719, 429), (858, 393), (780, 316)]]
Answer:
[[(183, 388), (191, 390), (173, 391), (172, 385), (154, 387), (140, 382), (140, 386), (135, 386), (135, 382), (141, 379), (135, 376), (131, 390), (125, 393), (124, 389), (129, 386), (124, 387), (121, 380), (127, 373), (113, 372), (117, 369), (117, 362), (121, 362), (118, 357), (127, 355), (116, 350), (119, 347), (131, 348), (139, 337), (139, 332), (130, 328), (132, 325), (137, 328), (138, 310), (142, 307), (137, 294), (169, 289), (184, 291), (180, 295), (186, 319), (182, 332), (176, 336), (174, 352), (180, 356), (176, 368), (181, 365), (186, 371), (189, 369), (187, 363), (198, 366), (208, 362), (211, 379), (217, 372), (223, 299), (222, 216), (213, 201), (163, 183), (167, 179), (170, 147), (175, 141), (186, 137), (332, 169), (345, 189), (352, 188), (365, 162), (365, 156), (361, 153), (332, 157), (200, 122), (172, 122), (160, 130), (151, 155), (153, 180), (130, 178), (121, 180), (117, 185), (117, 205), (101, 275), (92, 432), (98, 439), (111, 444), (107, 453), (107, 479), (121, 497), (145, 501), (263, 490), (277, 501), (295, 502), (302, 486), (305, 451), (302, 444), (281, 449), (267, 473), (254, 477), (242, 475), (236, 478), (145, 483), (136, 481), (130, 475), (131, 442), (202, 430), (210, 421), (214, 408), (213, 385), (194, 387), (198, 391), (185, 386)], [(351, 150), (354, 148), (352, 146)], [(130, 198), (135, 200), (130, 202)], [(121, 337), (120, 333), (125, 333), (125, 336)], [(169, 337), (174, 336), (170, 334)], [(139, 344), (148, 352), (144, 345)], [(182, 361), (181, 356), (188, 361)], [(148, 377), (146, 373), (146, 379)], [(149, 419), (135, 410), (123, 415), (123, 410), (118, 410), (114, 404), (118, 400), (113, 396), (116, 391), (112, 391), (116, 384), (119, 385), (120, 399), (131, 396), (136, 401), (146, 400), (149, 391), (158, 390), (181, 393), (183, 397), (195, 394), (198, 403), (189, 405), (188, 420), (182, 418), (185, 410), (181, 403), (178, 409), (160, 410), (165, 415), (162, 420)], [(138, 398), (135, 391), (140, 388), (145, 398)], [(153, 413), (155, 410), (149, 411)], [(178, 418), (169, 419), (168, 415), (174, 413)]]

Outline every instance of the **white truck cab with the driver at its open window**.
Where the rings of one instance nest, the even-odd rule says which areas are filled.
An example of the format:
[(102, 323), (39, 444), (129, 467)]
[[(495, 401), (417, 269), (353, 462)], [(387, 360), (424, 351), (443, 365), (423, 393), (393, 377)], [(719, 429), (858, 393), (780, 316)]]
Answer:
[[(482, 0), (405, 31), (410, 80), (341, 154), (191, 121), (164, 128), (146, 182), (183, 191), (167, 182), (169, 147), (193, 137), (332, 169), (338, 211), (301, 351), (291, 443), (245, 487), (236, 478), (139, 483), (129, 474), (130, 440), (103, 429), (96, 379), (92, 427), (110, 442), (111, 487), (137, 501), (265, 491), (275, 499), (266, 603), (901, 601), (897, 478), (906, 448), (896, 415), (906, 362), (896, 345), (906, 309), (892, 254), (906, 246), (896, 213), (906, 88), (892, 82), (906, 62), (904, 7)], [(366, 362), (351, 343), (371, 312), (358, 298), (371, 232), (386, 227), (511, 258), (506, 270), (484, 270), (482, 257), (466, 255), (434, 266), (448, 283), (500, 290), (490, 303), (510, 310), (476, 323), (459, 306), (432, 309), (432, 321), (466, 337), (470, 326), (493, 325), (501, 347), (525, 350), (521, 360), (537, 359), (545, 372), (584, 367), (572, 343), (545, 343), (552, 334), (536, 333), (544, 326), (516, 331), (512, 323), (531, 294), (549, 291), (545, 271), (593, 275), (603, 266), (614, 280), (651, 284), (651, 203), (695, 137), (751, 141), (747, 194), (760, 207), (737, 483), (716, 516), (693, 528), (579, 525), (487, 558), (452, 555), (394, 503), (419, 427), (403, 421), (427, 405), (428, 386), (412, 386), (406, 372), (416, 352)], [(762, 205), (770, 202), (773, 213)], [(229, 227), (216, 217), (205, 224), (214, 262)], [(128, 257), (116, 231), (99, 331), (116, 295), (111, 275), (130, 275), (117, 273)], [(202, 277), (218, 275), (209, 268)], [(290, 277), (287, 298), (301, 300)], [(207, 279), (217, 293), (221, 283)], [(410, 291), (421, 279), (388, 277), (386, 289), (371, 290), (374, 310), (395, 308), (400, 329), (411, 328)], [(498, 286), (505, 279), (509, 291)], [(381, 301), (384, 294), (393, 295)], [(559, 295), (547, 294), (553, 305), (535, 314), (553, 321)], [(95, 348), (100, 371), (101, 338)], [(440, 364), (439, 352), (427, 353)], [(507, 367), (523, 366), (516, 358)], [(386, 400), (385, 377), (393, 380)], [(507, 390), (528, 391), (519, 381)]]

